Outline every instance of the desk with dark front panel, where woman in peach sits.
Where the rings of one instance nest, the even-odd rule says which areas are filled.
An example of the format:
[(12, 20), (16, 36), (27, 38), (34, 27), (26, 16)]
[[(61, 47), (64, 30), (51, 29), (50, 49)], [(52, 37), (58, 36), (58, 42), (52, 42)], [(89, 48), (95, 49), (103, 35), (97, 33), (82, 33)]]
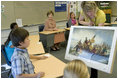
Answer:
[(54, 35), (61, 32), (65, 32), (65, 29), (39, 32), (40, 41), (43, 43), (43, 46), (46, 48), (47, 52), (50, 52), (50, 47), (54, 45)]

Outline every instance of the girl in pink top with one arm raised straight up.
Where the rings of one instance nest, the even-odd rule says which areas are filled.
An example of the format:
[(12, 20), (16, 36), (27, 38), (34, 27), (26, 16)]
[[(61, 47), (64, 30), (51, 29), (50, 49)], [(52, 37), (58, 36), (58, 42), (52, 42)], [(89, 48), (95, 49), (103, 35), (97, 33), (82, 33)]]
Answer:
[(78, 25), (77, 20), (75, 19), (74, 12), (70, 12), (70, 4), (68, 4), (68, 27)]

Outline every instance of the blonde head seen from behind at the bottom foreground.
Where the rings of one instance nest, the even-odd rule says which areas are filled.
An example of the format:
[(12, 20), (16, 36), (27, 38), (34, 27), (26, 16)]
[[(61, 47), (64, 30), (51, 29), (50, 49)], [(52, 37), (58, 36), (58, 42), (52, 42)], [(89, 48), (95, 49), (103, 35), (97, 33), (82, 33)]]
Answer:
[(81, 60), (72, 60), (64, 69), (64, 78), (89, 78), (88, 68)]

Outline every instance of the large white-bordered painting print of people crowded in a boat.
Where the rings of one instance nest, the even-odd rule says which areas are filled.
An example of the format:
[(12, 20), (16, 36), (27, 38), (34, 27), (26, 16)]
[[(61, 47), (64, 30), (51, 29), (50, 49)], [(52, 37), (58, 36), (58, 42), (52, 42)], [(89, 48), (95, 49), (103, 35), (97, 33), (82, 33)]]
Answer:
[(65, 59), (80, 59), (91, 68), (111, 73), (115, 57), (116, 31), (116, 27), (72, 26)]

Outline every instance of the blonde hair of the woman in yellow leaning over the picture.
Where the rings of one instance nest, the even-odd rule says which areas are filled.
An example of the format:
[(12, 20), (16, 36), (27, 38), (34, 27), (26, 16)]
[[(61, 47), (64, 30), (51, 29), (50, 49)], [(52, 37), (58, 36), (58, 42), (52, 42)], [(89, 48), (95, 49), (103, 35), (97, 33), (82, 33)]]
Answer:
[(83, 10), (85, 16), (88, 17), (89, 19), (90, 19), (90, 17), (86, 14), (88, 11), (90, 11), (90, 10), (94, 11), (95, 16), (96, 16), (96, 12), (99, 10), (99, 8), (96, 5), (95, 1), (83, 1), (81, 3), (81, 7), (82, 7), (82, 10)]

